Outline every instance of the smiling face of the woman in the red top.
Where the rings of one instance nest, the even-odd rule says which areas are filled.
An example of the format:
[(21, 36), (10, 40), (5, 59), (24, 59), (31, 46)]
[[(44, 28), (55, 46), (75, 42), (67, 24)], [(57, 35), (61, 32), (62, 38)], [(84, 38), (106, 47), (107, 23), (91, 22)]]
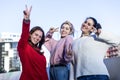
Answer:
[(32, 34), (30, 34), (30, 40), (31, 42), (36, 45), (41, 41), (43, 33), (40, 30), (34, 31)]

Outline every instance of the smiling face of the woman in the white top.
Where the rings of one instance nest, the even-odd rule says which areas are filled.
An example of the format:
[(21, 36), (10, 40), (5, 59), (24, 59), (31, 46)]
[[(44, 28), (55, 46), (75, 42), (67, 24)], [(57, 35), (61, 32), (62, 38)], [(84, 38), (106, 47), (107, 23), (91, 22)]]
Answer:
[(87, 19), (81, 26), (81, 31), (84, 35), (89, 35), (94, 30), (94, 21)]

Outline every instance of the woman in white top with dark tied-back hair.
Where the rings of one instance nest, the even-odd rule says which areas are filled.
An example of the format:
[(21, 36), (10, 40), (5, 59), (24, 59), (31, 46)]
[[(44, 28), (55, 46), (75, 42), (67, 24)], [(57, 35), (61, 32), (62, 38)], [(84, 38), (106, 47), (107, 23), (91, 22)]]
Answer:
[[(103, 62), (115, 38), (101, 31), (101, 26), (93, 17), (88, 17), (81, 26), (82, 36), (73, 42), (75, 55), (75, 78), (77, 80), (109, 80), (109, 73)], [(92, 32), (97, 36), (91, 36)], [(120, 42), (119, 42), (120, 43)], [(116, 43), (117, 44), (117, 43)]]

